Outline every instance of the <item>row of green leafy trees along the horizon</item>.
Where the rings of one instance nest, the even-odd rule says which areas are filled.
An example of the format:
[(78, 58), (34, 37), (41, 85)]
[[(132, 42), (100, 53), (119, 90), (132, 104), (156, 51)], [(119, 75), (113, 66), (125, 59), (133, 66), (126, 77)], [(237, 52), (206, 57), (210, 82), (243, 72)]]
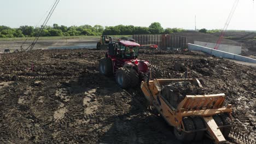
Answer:
[[(19, 28), (10, 28), (8, 26), (0, 26), (0, 38), (19, 38), (19, 37), (35, 37), (40, 31), (40, 27), (20, 26)], [(80, 35), (133, 35), (133, 34), (171, 34), (183, 31), (182, 28), (166, 28), (164, 29), (159, 22), (153, 22), (149, 27), (137, 26), (109, 26), (101, 25), (83, 25), (83, 26), (46, 26), (40, 37), (55, 36), (80, 36)]]

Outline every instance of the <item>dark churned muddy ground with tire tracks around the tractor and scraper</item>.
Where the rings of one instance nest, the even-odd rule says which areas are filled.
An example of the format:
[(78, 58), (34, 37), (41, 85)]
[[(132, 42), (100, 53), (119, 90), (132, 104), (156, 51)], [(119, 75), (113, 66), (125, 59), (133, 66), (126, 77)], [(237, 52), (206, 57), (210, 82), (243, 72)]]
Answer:
[[(181, 143), (139, 88), (124, 91), (100, 75), (104, 51), (0, 56), (0, 143)], [(256, 68), (192, 52), (143, 51), (141, 59), (159, 65), (166, 78), (183, 77), (173, 68), (183, 62), (190, 77), (233, 105), (228, 143), (255, 143)]]

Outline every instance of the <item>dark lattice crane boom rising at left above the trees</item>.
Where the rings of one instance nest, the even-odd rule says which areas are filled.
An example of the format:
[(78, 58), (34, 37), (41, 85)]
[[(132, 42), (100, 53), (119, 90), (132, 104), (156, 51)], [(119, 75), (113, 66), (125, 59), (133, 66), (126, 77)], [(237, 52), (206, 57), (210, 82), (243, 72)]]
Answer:
[(56, 0), (56, 1), (55, 1), (53, 7), (51, 8), (51, 10), (50, 10), (50, 12), (49, 12), (49, 14), (48, 14), (48, 16), (47, 16), (46, 19), (44, 20), (43, 25), (41, 26), (39, 32), (37, 33), (36, 38), (33, 40), (33, 43), (32, 43), (30, 46), (27, 47), (26, 51), (27, 51), (28, 49), (29, 49), (30, 51), (32, 51), (34, 45), (36, 45), (36, 43), (37, 43), (37, 41), (38, 41), (40, 35), (41, 35), (42, 32), (43, 32), (43, 29), (45, 28), (45, 26), (47, 25), (48, 21), (50, 20), (51, 15), (53, 15), (54, 10), (56, 9), (56, 7), (57, 7), (57, 5), (59, 4), (59, 2), (60, 2), (60, 0)]

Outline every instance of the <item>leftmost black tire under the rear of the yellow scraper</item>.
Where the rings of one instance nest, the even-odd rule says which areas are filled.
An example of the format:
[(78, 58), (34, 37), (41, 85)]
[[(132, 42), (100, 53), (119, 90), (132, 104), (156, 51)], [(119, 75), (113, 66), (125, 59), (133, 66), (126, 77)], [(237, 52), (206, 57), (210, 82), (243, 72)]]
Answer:
[[(190, 117), (184, 117), (183, 118), (183, 125), (184, 129), (186, 131), (195, 130), (195, 125), (193, 123), (192, 118)], [(184, 131), (178, 131), (176, 128), (174, 128), (174, 135), (178, 140), (183, 141), (184, 143), (190, 143), (195, 139), (195, 133), (185, 133)]]

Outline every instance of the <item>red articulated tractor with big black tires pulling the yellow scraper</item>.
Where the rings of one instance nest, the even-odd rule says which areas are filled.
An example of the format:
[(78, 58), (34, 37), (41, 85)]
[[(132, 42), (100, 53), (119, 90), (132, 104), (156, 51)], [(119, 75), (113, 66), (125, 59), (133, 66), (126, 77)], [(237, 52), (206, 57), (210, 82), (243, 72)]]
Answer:
[(106, 57), (100, 61), (100, 73), (106, 76), (115, 75), (118, 85), (125, 89), (138, 86), (149, 74), (151, 79), (162, 78), (161, 69), (150, 65), (148, 61), (138, 59), (139, 46), (126, 40), (110, 43)]

